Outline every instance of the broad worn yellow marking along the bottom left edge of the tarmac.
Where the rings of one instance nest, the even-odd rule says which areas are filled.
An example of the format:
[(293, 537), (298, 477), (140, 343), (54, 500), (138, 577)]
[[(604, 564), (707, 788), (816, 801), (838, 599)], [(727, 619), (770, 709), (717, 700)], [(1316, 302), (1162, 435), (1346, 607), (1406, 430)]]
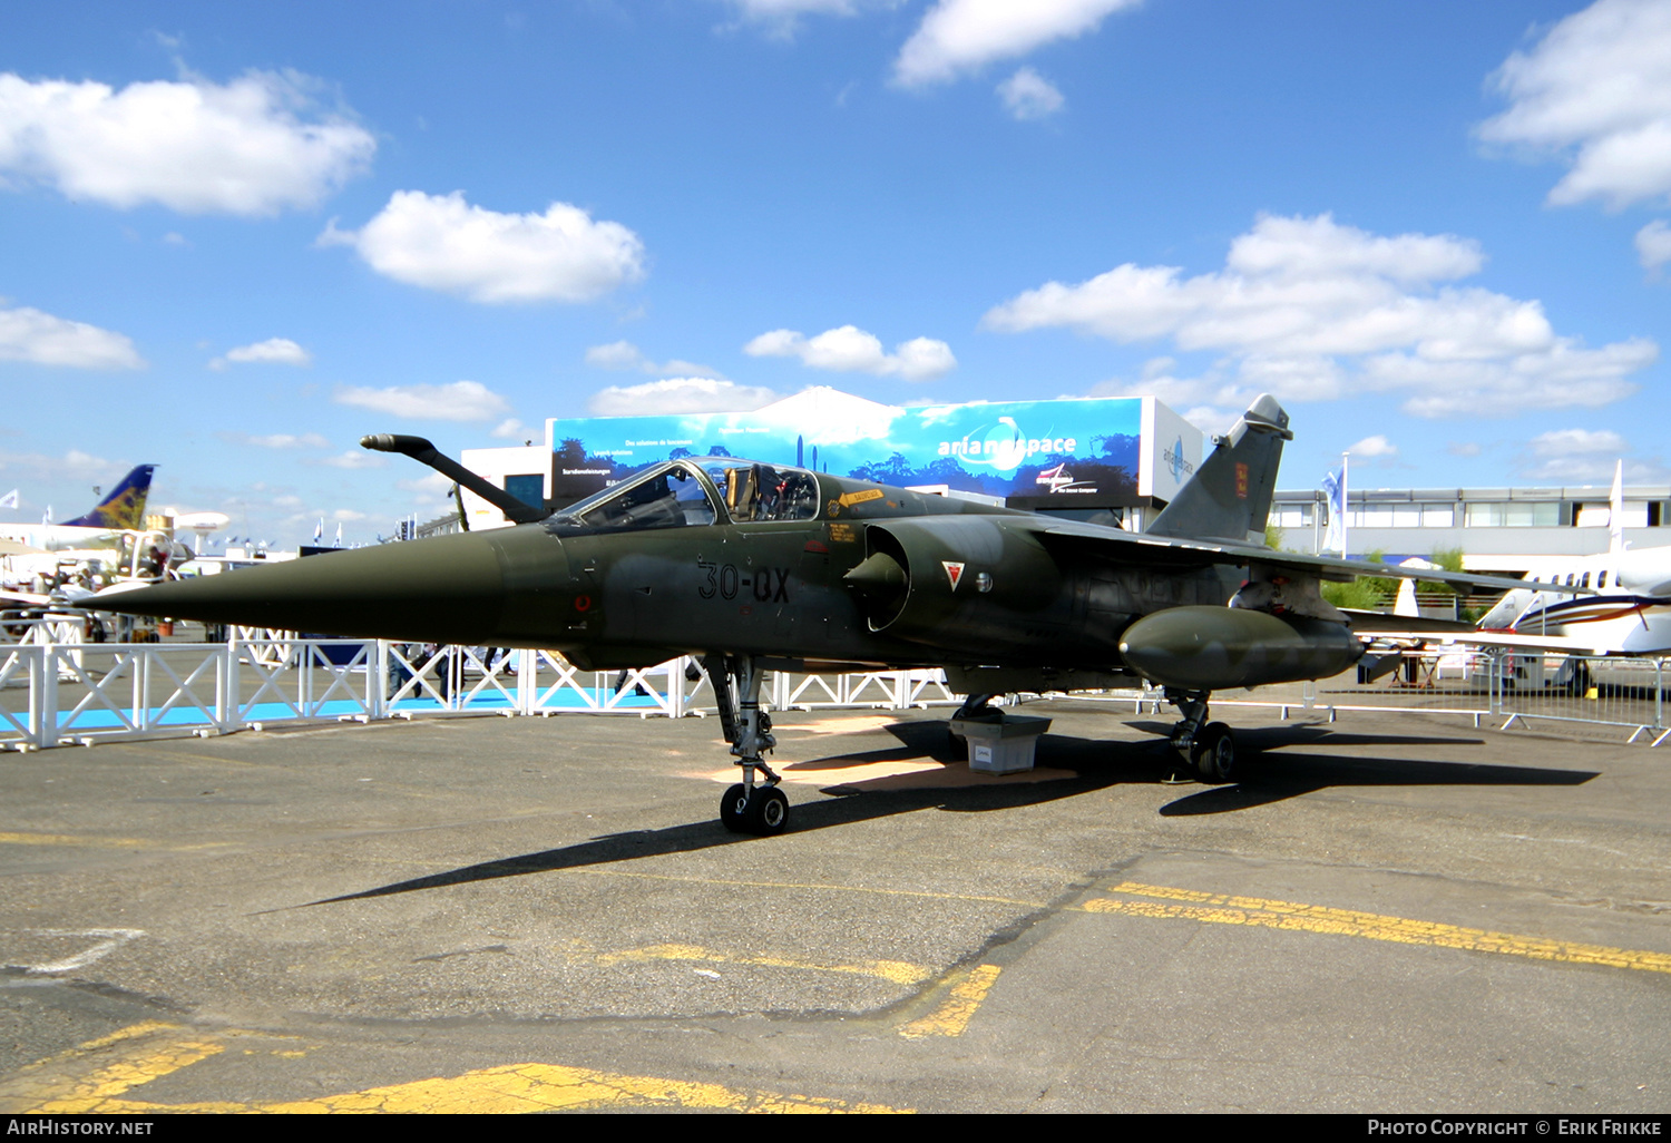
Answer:
[(891, 1108), (879, 1103), (777, 1095), (725, 1088), (715, 1083), (627, 1076), (541, 1063), (481, 1068), (461, 1076), (416, 1080), (364, 1091), (346, 1091), (321, 1100), (150, 1103), (119, 1098), (130, 1088), (159, 1080), (219, 1051), (224, 1051), (224, 1044), (197, 1038), (177, 1024), (134, 1024), (23, 1068), (0, 1086), (0, 1111), (37, 1115), (159, 1115), (170, 1111), (498, 1115), (595, 1108), (867, 1115), (909, 1111), (909, 1108)]

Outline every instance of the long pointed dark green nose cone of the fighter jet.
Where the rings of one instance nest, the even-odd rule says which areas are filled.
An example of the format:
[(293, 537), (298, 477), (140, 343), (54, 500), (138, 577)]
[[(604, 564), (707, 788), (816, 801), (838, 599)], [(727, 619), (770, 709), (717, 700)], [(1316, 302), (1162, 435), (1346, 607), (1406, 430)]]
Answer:
[[(100, 600), (102, 610), (319, 635), (483, 643), (505, 612), (491, 533), (354, 548), (160, 583)], [(545, 536), (560, 551), (555, 538)]]

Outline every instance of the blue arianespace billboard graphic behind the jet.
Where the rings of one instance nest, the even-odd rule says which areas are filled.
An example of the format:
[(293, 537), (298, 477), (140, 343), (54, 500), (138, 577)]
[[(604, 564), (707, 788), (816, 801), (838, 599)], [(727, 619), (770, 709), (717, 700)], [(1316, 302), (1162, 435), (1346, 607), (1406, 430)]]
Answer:
[(683, 456), (747, 456), (1004, 500), (1106, 501), (1138, 493), (1141, 411), (1140, 398), (897, 408), (809, 389), (752, 413), (553, 418), (546, 439), (556, 503)]

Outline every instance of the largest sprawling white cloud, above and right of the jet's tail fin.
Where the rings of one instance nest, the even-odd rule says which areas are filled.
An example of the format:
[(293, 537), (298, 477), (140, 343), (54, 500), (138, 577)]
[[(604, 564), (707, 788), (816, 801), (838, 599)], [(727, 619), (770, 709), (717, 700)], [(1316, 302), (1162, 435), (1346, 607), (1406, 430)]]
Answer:
[[(1415, 416), (1507, 416), (1599, 406), (1636, 391), (1646, 338), (1589, 349), (1551, 328), (1537, 301), (1455, 286), (1481, 269), (1455, 236), (1382, 237), (1330, 216), (1260, 217), (1222, 271), (1126, 262), (1086, 282), (1046, 282), (991, 309), (989, 329), (1069, 328), (1113, 341), (1166, 338), (1223, 354), (1166, 399), (1245, 408), (1262, 389), (1298, 401), (1404, 393)], [(1160, 391), (1151, 379), (1133, 389)]]

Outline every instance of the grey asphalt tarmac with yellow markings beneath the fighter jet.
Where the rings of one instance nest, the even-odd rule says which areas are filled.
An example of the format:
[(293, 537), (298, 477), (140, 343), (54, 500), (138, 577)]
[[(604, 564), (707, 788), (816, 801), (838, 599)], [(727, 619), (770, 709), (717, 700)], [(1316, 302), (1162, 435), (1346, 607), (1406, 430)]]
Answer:
[(1671, 1111), (1671, 749), (1028, 714), (780, 714), (774, 839), (715, 719), (0, 755), (0, 1111)]

